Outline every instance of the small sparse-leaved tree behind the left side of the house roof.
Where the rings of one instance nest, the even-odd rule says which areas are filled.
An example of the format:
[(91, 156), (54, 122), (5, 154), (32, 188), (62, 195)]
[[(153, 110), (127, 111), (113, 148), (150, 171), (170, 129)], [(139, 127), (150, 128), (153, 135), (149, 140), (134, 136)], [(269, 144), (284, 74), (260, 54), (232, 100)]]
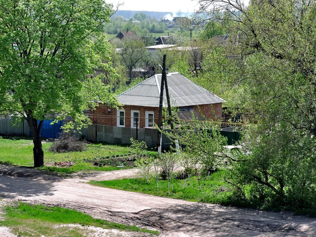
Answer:
[(148, 56), (147, 50), (142, 40), (126, 40), (123, 48), (120, 50), (122, 64), (128, 68), (130, 82), (132, 79), (132, 70), (138, 66), (143, 66)]

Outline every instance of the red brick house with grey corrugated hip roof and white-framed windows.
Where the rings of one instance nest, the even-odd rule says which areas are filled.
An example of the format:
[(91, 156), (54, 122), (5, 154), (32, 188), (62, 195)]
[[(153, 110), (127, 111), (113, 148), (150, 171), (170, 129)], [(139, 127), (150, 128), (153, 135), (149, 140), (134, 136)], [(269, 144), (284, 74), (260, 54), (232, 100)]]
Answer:
[[(171, 106), (179, 109), (179, 119), (222, 119), (225, 100), (198, 86), (178, 72), (167, 74)], [(153, 127), (158, 122), (161, 74), (156, 74), (117, 96), (124, 106), (114, 109), (99, 104), (90, 111), (93, 124), (119, 127)], [(163, 107), (167, 107), (164, 90)]]

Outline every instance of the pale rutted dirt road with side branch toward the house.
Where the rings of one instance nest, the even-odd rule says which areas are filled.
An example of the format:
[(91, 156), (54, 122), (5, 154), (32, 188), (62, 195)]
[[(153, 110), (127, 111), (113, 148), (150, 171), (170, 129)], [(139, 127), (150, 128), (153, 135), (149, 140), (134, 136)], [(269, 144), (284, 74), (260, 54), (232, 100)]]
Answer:
[(0, 194), (8, 199), (72, 208), (108, 221), (155, 228), (161, 236), (316, 235), (316, 219), (290, 212), (194, 203), (86, 183), (133, 175), (134, 169), (64, 178), (0, 165)]

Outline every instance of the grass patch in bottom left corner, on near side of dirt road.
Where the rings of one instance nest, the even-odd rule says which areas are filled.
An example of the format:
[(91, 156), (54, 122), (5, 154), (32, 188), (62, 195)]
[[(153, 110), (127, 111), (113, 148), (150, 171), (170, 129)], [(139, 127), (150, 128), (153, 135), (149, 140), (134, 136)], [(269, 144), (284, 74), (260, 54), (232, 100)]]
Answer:
[(13, 233), (18, 236), (87, 236), (87, 234), (89, 236), (92, 234), (87, 233), (87, 230), (82, 228), (61, 226), (65, 224), (80, 224), (82, 226), (159, 235), (159, 231), (95, 219), (76, 210), (21, 202), (16, 206), (7, 206), (4, 221), (0, 221), (0, 225), (11, 228)]

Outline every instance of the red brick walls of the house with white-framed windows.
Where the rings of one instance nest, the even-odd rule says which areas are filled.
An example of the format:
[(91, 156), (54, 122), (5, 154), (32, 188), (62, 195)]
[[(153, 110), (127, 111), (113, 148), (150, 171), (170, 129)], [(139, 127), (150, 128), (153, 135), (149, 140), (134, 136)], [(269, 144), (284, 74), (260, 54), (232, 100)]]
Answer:
[[(199, 105), (199, 106), (187, 106), (192, 107), (194, 111), (202, 113), (206, 119), (222, 119), (222, 103), (212, 104), (212, 105)], [(182, 107), (185, 108), (185, 107)], [(110, 108), (108, 111), (106, 105), (99, 104), (95, 110), (90, 111), (90, 119), (93, 124), (97, 125), (107, 125), (107, 126), (117, 126), (117, 110)], [(154, 122), (158, 123), (158, 107), (146, 107), (146, 106), (123, 106), (125, 110), (125, 127), (131, 127), (131, 110), (139, 111), (139, 127), (145, 127), (145, 117), (146, 111), (154, 112)]]

